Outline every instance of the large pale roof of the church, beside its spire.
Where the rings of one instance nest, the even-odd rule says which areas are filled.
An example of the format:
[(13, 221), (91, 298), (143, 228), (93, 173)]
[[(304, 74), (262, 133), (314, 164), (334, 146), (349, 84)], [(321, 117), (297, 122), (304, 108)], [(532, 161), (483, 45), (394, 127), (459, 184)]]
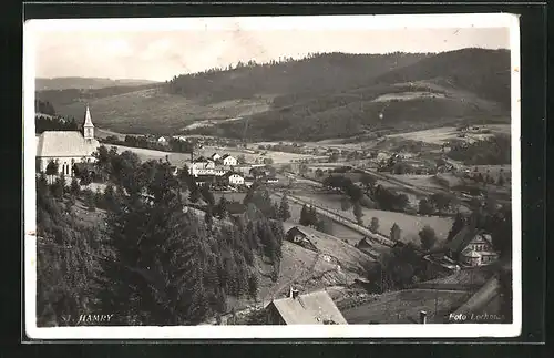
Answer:
[(79, 131), (45, 131), (37, 141), (37, 156), (90, 156), (99, 146)]

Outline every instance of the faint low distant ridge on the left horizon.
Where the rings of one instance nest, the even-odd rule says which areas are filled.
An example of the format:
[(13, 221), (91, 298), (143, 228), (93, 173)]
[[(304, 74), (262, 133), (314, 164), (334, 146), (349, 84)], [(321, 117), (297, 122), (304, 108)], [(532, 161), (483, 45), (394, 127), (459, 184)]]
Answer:
[(101, 78), (37, 78), (35, 90), (66, 90), (66, 89), (103, 89), (109, 86), (134, 86), (143, 84), (153, 84), (156, 81), (150, 80), (112, 80), (112, 79), (101, 79)]

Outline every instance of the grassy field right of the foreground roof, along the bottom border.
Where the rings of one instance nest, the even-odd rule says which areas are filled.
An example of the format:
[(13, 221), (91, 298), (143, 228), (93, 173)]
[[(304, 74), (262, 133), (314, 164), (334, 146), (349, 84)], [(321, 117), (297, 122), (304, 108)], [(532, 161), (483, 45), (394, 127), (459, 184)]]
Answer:
[[(419, 313), (428, 313), (428, 323), (449, 314), (464, 304), (471, 294), (454, 290), (409, 289), (380, 295), (375, 301), (345, 309), (342, 316), (350, 325), (412, 324), (418, 323)], [(441, 317), (438, 317), (441, 323)]]

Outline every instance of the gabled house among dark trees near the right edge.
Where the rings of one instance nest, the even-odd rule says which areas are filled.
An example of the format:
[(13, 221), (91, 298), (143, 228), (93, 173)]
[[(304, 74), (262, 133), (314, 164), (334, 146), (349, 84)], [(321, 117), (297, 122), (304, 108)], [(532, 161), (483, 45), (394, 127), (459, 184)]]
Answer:
[(462, 228), (447, 247), (449, 256), (465, 266), (489, 265), (499, 258), (491, 235), (471, 226)]

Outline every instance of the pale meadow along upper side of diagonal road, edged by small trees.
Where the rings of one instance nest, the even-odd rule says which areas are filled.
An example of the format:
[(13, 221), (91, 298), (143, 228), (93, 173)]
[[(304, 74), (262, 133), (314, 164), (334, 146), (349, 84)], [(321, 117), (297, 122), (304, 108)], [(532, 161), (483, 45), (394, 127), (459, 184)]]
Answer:
[[(340, 208), (340, 194), (305, 194), (295, 195), (306, 201), (311, 201), (325, 208), (337, 212), (339, 215), (355, 219), (352, 209), (342, 211)], [(400, 226), (402, 241), (419, 243), (418, 233), (424, 225), (430, 225), (439, 239), (444, 239), (452, 227), (452, 218), (437, 216), (413, 216), (403, 213), (386, 212), (378, 209), (362, 208), (365, 225), (369, 225), (371, 217), (379, 218), (379, 232), (383, 235), (390, 234), (390, 228), (394, 223)]]

